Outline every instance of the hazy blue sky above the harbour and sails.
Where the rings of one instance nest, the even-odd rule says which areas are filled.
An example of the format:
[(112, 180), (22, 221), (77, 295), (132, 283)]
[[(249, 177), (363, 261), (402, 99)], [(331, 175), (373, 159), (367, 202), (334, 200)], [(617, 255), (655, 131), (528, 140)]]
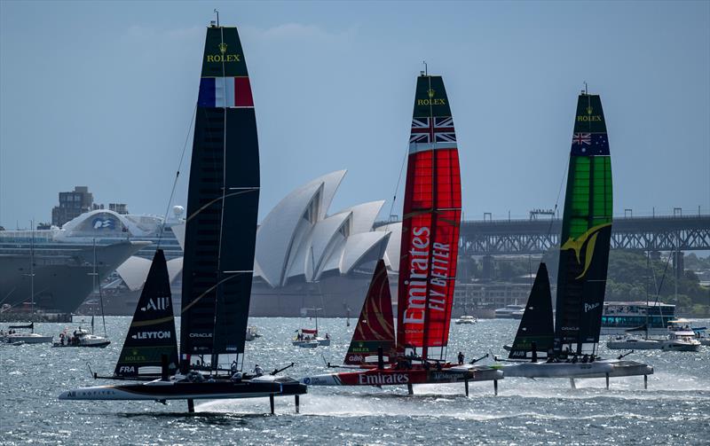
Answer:
[(256, 106), (259, 220), (348, 169), (330, 213), (401, 214), (416, 76), (444, 76), (465, 219), (564, 203), (577, 95), (601, 95), (614, 212), (710, 213), (710, 2), (0, 0), (0, 225), (58, 192), (185, 205), (205, 27), (239, 27)]

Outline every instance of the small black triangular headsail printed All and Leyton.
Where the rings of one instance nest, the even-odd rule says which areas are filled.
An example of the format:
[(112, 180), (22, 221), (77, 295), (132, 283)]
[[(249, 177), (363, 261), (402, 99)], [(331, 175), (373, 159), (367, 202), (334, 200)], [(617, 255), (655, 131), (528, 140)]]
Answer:
[(168, 357), (168, 368), (175, 372), (177, 336), (168, 265), (162, 249), (156, 249), (114, 375), (135, 377), (144, 367), (157, 369), (144, 369), (143, 374), (159, 374), (162, 356)]

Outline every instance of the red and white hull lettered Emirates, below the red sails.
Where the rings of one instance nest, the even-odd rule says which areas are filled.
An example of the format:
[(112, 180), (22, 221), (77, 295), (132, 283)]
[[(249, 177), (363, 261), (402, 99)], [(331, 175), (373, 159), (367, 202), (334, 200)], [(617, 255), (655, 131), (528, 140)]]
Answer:
[(309, 386), (403, 386), (408, 384), (439, 384), (462, 381), (503, 379), (503, 372), (487, 366), (454, 366), (442, 370), (369, 369), (357, 372), (326, 373), (304, 377)]

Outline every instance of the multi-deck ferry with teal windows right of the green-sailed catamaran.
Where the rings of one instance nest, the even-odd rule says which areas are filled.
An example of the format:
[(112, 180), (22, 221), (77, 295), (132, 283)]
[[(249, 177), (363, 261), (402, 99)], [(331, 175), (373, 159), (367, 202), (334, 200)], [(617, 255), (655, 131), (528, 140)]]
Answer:
[(648, 325), (650, 335), (667, 335), (675, 319), (675, 305), (646, 301), (604, 302), (602, 334), (625, 334), (631, 328)]

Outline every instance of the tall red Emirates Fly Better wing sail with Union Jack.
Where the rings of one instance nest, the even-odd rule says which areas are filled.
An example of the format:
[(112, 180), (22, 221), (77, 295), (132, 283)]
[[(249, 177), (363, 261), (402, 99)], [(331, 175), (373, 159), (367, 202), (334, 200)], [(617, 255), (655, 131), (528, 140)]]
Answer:
[(398, 353), (443, 359), (454, 300), (461, 174), (441, 76), (417, 79), (403, 215)]

